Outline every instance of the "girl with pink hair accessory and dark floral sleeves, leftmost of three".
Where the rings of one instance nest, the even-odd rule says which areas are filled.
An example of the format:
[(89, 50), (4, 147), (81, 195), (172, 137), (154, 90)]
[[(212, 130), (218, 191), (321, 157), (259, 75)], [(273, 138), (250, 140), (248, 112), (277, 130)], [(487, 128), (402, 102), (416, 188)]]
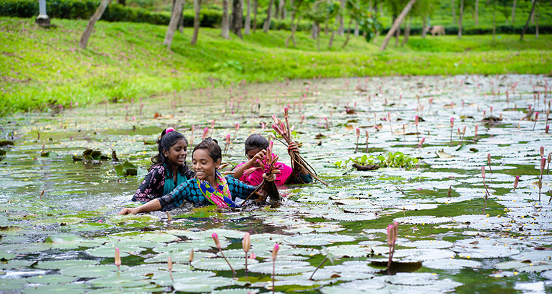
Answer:
[(170, 193), (175, 187), (195, 177), (186, 165), (188, 140), (172, 127), (164, 129), (157, 140), (159, 154), (153, 156), (153, 165), (132, 197), (142, 203)]

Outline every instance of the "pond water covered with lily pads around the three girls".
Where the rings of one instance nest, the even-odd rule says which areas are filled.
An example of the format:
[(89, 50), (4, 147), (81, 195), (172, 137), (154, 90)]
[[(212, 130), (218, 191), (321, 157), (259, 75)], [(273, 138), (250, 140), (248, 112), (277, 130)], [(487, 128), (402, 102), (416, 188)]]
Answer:
[[(0, 157), (0, 292), (271, 292), (278, 242), (275, 291), (282, 293), (550, 293), (549, 162), (539, 189), (540, 147), (545, 158), (552, 151), (550, 84), (530, 75), (313, 78), (0, 118), (1, 140), (14, 143)], [(273, 134), (270, 116), (282, 118), (284, 107), (302, 156), (328, 187), (282, 187), (286, 201), (277, 209), (185, 206), (170, 220), (161, 212), (116, 215), (134, 205), (165, 127), (190, 145), (209, 127), (223, 149), (230, 134), (223, 161), (234, 166), (245, 159), (245, 138)], [(95, 160), (97, 153), (86, 160), (86, 149), (116, 151), (120, 162)], [(346, 162), (397, 151), (419, 161), (373, 171)], [(289, 165), (284, 145), (275, 142), (275, 153)], [(139, 176), (118, 174), (129, 169)], [(386, 271), (393, 221), (398, 239)], [(236, 275), (215, 250), (215, 232)], [(257, 256), (247, 273), (246, 232)], [(326, 255), (333, 264), (313, 275)]]

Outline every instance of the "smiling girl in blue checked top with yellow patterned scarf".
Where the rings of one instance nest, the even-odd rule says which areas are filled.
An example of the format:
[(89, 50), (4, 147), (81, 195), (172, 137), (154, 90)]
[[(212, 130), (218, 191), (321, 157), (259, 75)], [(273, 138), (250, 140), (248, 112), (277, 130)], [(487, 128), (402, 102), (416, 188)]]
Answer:
[[(219, 145), (211, 138), (199, 143), (192, 152), (195, 179), (187, 180), (165, 196), (135, 208), (124, 208), (119, 214), (137, 214), (150, 211), (169, 211), (184, 202), (199, 206), (215, 204), (218, 207), (239, 207), (236, 198), (246, 199), (257, 187), (247, 185), (233, 176), (222, 176), (218, 171), (222, 155)], [(263, 177), (274, 181), (275, 174)], [(252, 198), (253, 199), (253, 198)]]

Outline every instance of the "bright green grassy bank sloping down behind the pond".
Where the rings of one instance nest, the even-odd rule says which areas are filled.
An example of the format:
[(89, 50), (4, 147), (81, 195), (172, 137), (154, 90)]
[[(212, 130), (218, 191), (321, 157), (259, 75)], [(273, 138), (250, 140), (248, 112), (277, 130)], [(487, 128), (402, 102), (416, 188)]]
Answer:
[(221, 39), (220, 30), (201, 28), (199, 42), (189, 45), (191, 31), (177, 33), (172, 50), (161, 46), (165, 26), (99, 21), (88, 49), (77, 46), (86, 21), (54, 21), (48, 30), (33, 19), (0, 18), (0, 114), (119, 101), (232, 82), (268, 82), (284, 78), (380, 76), (392, 74), (542, 74), (552, 70), (552, 36), (540, 39), (501, 35), (420, 39), (405, 47), (393, 41), (384, 53), (379, 43), (351, 36), (322, 34), (321, 52), (306, 32), (297, 48), (284, 48), (289, 32), (276, 31)]

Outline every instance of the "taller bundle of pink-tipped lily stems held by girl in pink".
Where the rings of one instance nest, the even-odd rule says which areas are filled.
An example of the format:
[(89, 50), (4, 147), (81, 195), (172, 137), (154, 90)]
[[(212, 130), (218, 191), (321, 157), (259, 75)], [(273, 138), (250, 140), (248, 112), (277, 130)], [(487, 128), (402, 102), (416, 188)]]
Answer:
[[(291, 138), (291, 132), (292, 132), (292, 129), (290, 129), (289, 127), (289, 115), (288, 115), (288, 107), (284, 108), (284, 120), (286, 120), (286, 123), (282, 123), (282, 120), (279, 120), (279, 118), (277, 118), (277, 116), (273, 115), (272, 116), (272, 119), (274, 120), (274, 125), (272, 125), (273, 129), (280, 135), (282, 136), (282, 138), (284, 138), (285, 142), (283, 142), (282, 140), (279, 140), (278, 138), (276, 138), (277, 140), (279, 140), (282, 144), (284, 144), (286, 147), (288, 147), (288, 154), (291, 158), (291, 168), (293, 169), (293, 174), (295, 176), (299, 175), (299, 173), (301, 172), (302, 169), (305, 169), (308, 174), (311, 175), (311, 177), (319, 180), (319, 182), (322, 182), (322, 184), (328, 186), (328, 184), (326, 184), (326, 182), (324, 182), (323, 180), (320, 180), (320, 178), (318, 178), (318, 175), (316, 174), (316, 171), (315, 169), (313, 169), (313, 167), (311, 165), (308, 164), (308, 162), (306, 162), (301, 155), (299, 155), (299, 153), (291, 150), (289, 148), (290, 144), (293, 143), (293, 140)], [(299, 180), (301, 179), (300, 177), (298, 177)]]

